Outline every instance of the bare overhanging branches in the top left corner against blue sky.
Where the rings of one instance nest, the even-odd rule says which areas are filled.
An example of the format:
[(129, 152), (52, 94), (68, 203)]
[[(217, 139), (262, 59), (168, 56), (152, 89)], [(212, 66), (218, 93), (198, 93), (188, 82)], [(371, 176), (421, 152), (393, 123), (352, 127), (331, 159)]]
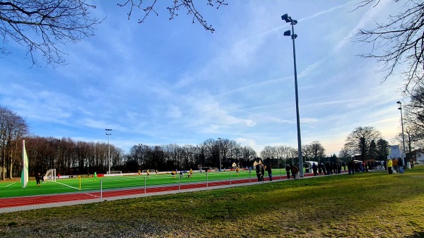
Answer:
[[(0, 1), (0, 35), (27, 49), (27, 59), (37, 64), (38, 52), (47, 64), (65, 64), (58, 44), (78, 42), (94, 35), (101, 20), (90, 17), (85, 0)], [(7, 49), (1, 47), (3, 52)]]

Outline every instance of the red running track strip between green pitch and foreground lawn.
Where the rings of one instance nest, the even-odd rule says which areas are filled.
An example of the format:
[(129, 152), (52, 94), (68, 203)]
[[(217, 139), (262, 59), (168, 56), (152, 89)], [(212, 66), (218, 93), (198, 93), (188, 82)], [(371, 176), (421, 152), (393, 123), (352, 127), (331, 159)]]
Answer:
[[(305, 174), (305, 177), (312, 176), (312, 174)], [(273, 177), (273, 180), (286, 179), (287, 176), (278, 176)], [(269, 180), (265, 178), (265, 180)], [(139, 194), (155, 194), (165, 191), (177, 191), (177, 190), (187, 190), (187, 189), (200, 189), (206, 187), (213, 186), (223, 186), (223, 185), (232, 185), (232, 184), (248, 184), (251, 182), (256, 182), (256, 177), (252, 179), (237, 179), (237, 180), (225, 180), (219, 182), (208, 182), (206, 183), (196, 183), (196, 184), (180, 184), (180, 185), (172, 185), (172, 186), (155, 186), (155, 187), (146, 187), (146, 191), (144, 188), (140, 189), (120, 189), (120, 190), (107, 190), (102, 191), (94, 191), (94, 192), (86, 192), (86, 193), (71, 193), (71, 194), (54, 194), (54, 195), (44, 195), (44, 196), (25, 196), (25, 197), (13, 197), (13, 198), (0, 198), (0, 208), (14, 208), (20, 206), (33, 206), (40, 204), (48, 204), (48, 203), (63, 203), (70, 201), (84, 201), (90, 199), (98, 199), (101, 198), (112, 198), (119, 196), (131, 196), (131, 195), (139, 195)]]

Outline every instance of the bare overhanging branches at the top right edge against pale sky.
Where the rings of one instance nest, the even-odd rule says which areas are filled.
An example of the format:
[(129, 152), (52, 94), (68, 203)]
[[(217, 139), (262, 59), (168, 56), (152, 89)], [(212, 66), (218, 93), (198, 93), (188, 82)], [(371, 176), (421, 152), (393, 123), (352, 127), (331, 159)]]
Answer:
[[(378, 7), (380, 0), (363, 0), (358, 7), (374, 4)], [(386, 80), (394, 70), (403, 64), (408, 65), (406, 90), (423, 79), (424, 71), (424, 2), (422, 0), (392, 0), (399, 5), (399, 13), (389, 16), (387, 23), (376, 23), (375, 27), (360, 29), (353, 40), (372, 44), (372, 51), (360, 54), (365, 58), (377, 59), (386, 72)]]

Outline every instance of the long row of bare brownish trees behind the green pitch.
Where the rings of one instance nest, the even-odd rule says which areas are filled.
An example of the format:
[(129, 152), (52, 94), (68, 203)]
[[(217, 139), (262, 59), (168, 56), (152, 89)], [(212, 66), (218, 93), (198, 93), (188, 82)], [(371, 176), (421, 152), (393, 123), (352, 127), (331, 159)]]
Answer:
[[(22, 143), (18, 143), (15, 176), (21, 169)], [(57, 169), (59, 174), (106, 173), (109, 169), (137, 172), (139, 169), (197, 169), (199, 167), (252, 166), (257, 153), (249, 146), (228, 139), (208, 139), (199, 145), (134, 145), (129, 153), (100, 142), (73, 141), (71, 138), (33, 136), (25, 138), (29, 158), (29, 174)], [(110, 151), (110, 153), (109, 153)], [(19, 166), (20, 165), (20, 166)]]

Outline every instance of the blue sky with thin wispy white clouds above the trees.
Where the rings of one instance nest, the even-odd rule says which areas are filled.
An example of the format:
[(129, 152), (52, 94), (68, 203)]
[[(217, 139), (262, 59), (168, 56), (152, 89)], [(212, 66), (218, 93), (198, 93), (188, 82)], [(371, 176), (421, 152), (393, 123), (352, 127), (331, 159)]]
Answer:
[[(25, 49), (0, 58), (0, 105), (25, 118), (38, 136), (132, 145), (196, 145), (228, 138), (257, 153), (266, 145), (297, 148), (293, 44), (295, 25), (302, 144), (320, 141), (338, 154), (355, 127), (374, 126), (391, 143), (400, 129), (401, 76), (384, 83), (376, 61), (357, 54), (355, 29), (387, 19), (381, 2), (228, 1), (219, 10), (196, 1), (216, 32), (180, 12), (136, 23), (118, 1), (94, 1), (105, 18), (94, 37), (61, 48), (66, 66), (31, 67)], [(197, 3), (199, 2), (199, 3)]]

